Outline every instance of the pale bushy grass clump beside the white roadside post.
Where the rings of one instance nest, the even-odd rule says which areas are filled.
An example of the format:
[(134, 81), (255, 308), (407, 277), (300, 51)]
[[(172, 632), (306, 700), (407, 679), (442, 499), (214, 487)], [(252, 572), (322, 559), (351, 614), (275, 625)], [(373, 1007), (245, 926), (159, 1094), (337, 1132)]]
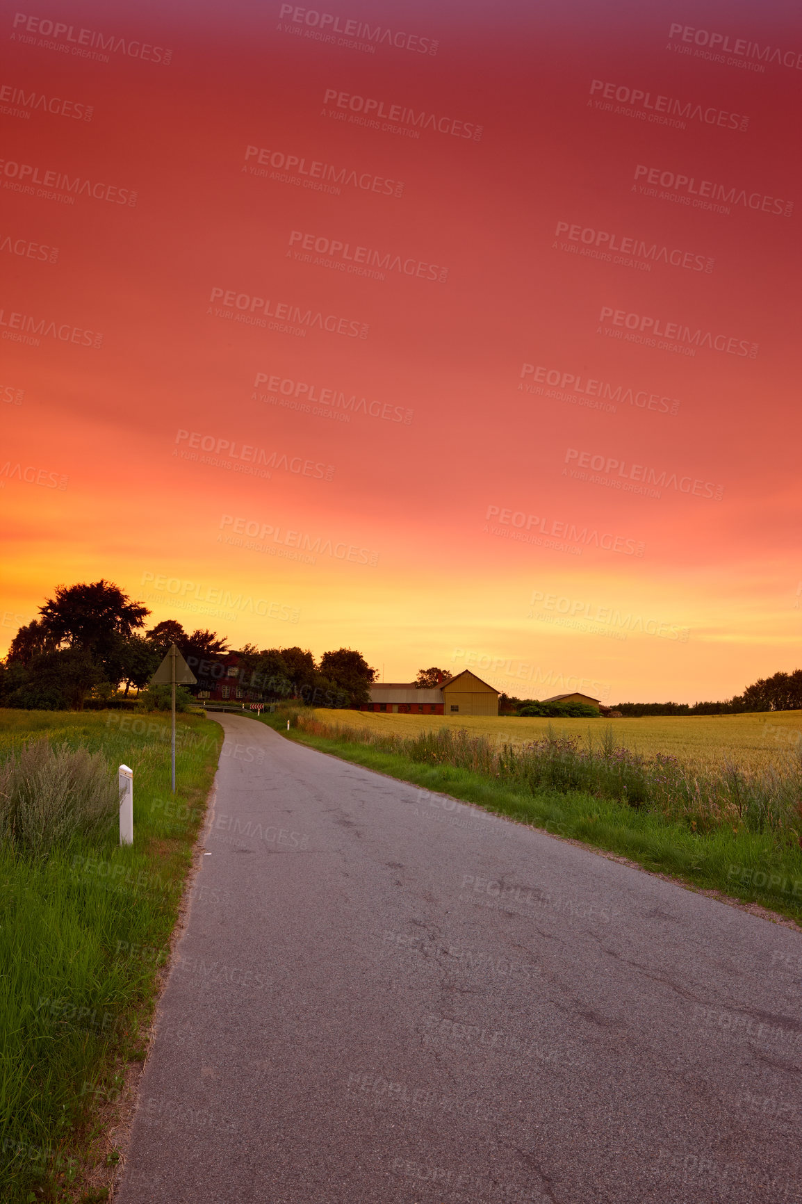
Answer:
[(40, 739), (0, 763), (0, 843), (17, 854), (96, 837), (118, 810), (117, 775), (100, 752)]

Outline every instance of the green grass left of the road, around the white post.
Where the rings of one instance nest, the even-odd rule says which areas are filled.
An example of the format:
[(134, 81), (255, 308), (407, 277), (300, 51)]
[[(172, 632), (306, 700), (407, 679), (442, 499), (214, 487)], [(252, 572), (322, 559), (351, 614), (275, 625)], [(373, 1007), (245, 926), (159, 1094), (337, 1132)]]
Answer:
[(107, 830), (46, 857), (0, 845), (0, 1199), (89, 1204), (118, 1157), (99, 1111), (145, 1057), (222, 732), (178, 718), (175, 796), (164, 714), (0, 710), (0, 760), (42, 737), (134, 769), (134, 844)]

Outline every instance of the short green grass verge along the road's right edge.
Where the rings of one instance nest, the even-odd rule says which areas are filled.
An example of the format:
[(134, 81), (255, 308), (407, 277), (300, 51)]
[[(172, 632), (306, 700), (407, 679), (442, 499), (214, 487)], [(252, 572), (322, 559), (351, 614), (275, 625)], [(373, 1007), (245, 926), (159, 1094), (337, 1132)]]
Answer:
[[(301, 715), (303, 713), (300, 713)], [(618, 854), (653, 873), (760, 903), (802, 922), (802, 850), (772, 831), (729, 826), (694, 832), (684, 822), (582, 791), (508, 789), (489, 777), (450, 765), (425, 765), (401, 752), (382, 751), (347, 738), (311, 734), (295, 726), (299, 712), (265, 714), (261, 722), (296, 740), (366, 769), (425, 790), (476, 803), (496, 815), (544, 828)], [(287, 730), (287, 720), (291, 727)], [(303, 718), (301, 718), (303, 722)]]

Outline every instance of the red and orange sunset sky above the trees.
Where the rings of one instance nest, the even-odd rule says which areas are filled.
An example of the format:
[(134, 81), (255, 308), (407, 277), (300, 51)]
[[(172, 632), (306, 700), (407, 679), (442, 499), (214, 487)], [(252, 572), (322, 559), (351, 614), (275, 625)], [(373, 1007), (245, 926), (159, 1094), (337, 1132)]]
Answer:
[(2, 649), (105, 577), (394, 681), (796, 668), (794, 12), (7, 8)]

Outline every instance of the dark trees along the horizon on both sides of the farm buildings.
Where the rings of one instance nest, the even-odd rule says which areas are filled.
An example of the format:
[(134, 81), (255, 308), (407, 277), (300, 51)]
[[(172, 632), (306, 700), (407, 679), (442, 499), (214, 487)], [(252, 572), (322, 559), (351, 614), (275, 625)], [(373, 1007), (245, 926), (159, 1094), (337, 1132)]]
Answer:
[[(0, 660), (0, 707), (23, 709), (81, 709), (84, 702), (111, 702), (120, 686), (147, 687), (172, 643), (187, 660), (197, 684), (194, 692), (212, 691), (220, 678), (230, 678), (241, 697), (254, 701), (297, 698), (313, 707), (360, 707), (371, 700), (376, 681), (361, 653), (338, 648), (319, 661), (308, 649), (256, 648), (242, 644), (232, 663), (224, 636), (214, 631), (184, 631), (175, 619), (145, 628), (151, 614), (118, 585), (101, 578), (77, 585), (57, 585), (54, 597), (39, 608), (40, 618), (23, 625)], [(415, 685), (436, 689), (450, 678), (447, 669), (420, 669)], [(157, 691), (143, 700), (160, 706)], [(243, 697), (243, 701), (244, 701)], [(621, 715), (737, 715), (747, 710), (802, 709), (802, 669), (774, 673), (747, 686), (725, 702), (620, 702), (601, 714)], [(567, 700), (552, 702), (502, 694), (500, 714), (584, 716), (595, 708)]]

